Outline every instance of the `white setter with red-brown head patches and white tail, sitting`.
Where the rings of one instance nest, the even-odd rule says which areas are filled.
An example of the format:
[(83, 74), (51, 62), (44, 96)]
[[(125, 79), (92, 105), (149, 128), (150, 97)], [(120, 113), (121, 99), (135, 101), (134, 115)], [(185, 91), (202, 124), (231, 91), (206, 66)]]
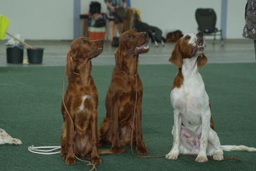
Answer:
[(179, 68), (170, 94), (174, 126), (172, 150), (166, 154), (169, 160), (176, 160), (179, 154), (198, 154), (196, 161), (205, 162), (207, 156), (223, 160), (223, 151), (256, 151), (244, 145), (221, 145), (212, 129), (209, 97), (198, 73), (207, 63), (204, 43), (204, 33), (186, 34), (177, 41), (169, 59)]

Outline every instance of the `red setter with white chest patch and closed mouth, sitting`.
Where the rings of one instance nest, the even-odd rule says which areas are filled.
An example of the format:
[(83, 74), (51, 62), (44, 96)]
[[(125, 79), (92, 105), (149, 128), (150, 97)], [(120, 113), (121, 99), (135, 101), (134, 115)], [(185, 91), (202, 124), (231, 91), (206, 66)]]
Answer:
[(75, 155), (101, 163), (97, 137), (98, 91), (90, 71), (92, 58), (99, 56), (103, 47), (103, 40), (77, 38), (67, 54), (68, 86), (61, 103), (61, 155), (67, 165), (76, 163)]

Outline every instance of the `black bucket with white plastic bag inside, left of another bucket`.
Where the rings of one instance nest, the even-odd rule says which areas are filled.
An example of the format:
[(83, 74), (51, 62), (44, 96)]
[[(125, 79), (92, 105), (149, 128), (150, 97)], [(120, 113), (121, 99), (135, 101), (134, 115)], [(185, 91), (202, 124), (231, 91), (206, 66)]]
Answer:
[(6, 47), (7, 63), (21, 64), (23, 63), (23, 46)]

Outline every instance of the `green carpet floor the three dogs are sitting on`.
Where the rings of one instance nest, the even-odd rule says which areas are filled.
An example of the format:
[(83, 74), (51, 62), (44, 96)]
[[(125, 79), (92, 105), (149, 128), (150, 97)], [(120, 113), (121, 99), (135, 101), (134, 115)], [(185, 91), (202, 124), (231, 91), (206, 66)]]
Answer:
[[(113, 66), (93, 66), (99, 91), (98, 123), (106, 115), (104, 99)], [(60, 154), (41, 155), (28, 146), (60, 145), (61, 97), (65, 67), (0, 68), (0, 128), (22, 145), (0, 145), (0, 170), (90, 170), (86, 163), (65, 165)], [(149, 155), (163, 156), (172, 147), (173, 109), (170, 91), (177, 68), (172, 64), (141, 65), (144, 85), (143, 140)], [(207, 64), (200, 70), (212, 106), (212, 117), (222, 145), (256, 147), (256, 64)], [(67, 78), (65, 78), (67, 85)], [(110, 146), (104, 147), (104, 149)], [(256, 152), (224, 152), (227, 160), (196, 163), (193, 156), (141, 159), (127, 152), (102, 155), (98, 170), (256, 170)]]

